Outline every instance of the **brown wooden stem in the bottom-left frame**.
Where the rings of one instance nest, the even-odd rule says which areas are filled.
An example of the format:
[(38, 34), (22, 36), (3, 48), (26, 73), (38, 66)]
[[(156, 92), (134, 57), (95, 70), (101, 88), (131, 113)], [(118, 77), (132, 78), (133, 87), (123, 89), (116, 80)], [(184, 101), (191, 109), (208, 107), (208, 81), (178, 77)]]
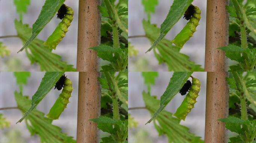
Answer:
[(77, 143), (99, 143), (100, 131), (97, 124), (88, 121), (100, 117), (101, 87), (100, 72), (79, 72)]

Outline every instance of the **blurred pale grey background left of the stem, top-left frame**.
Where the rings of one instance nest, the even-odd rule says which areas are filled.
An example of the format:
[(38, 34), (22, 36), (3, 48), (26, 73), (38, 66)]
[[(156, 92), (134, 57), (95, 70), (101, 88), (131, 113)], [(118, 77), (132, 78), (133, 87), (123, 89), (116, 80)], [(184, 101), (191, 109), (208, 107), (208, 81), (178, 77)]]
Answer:
[[(32, 27), (44, 3), (44, 0), (30, 0), (27, 14), (23, 15), (23, 23), (28, 23)], [(63, 61), (76, 67), (78, 0), (66, 0), (65, 4), (72, 7), (74, 19), (68, 28), (65, 38), (60, 42), (56, 50), (53, 50), (53, 53), (61, 55)], [(0, 36), (17, 35), (14, 25), (15, 19), (19, 19), (19, 15), (16, 13), (13, 0), (1, 0)], [(45, 41), (52, 34), (58, 23), (60, 23), (60, 19), (57, 19), (57, 17), (52, 18), (37, 38)], [(22, 48), (22, 42), (19, 38), (1, 38), (0, 41), (11, 50), (10, 56), (1, 58), (0, 71), (40, 71), (38, 64), (30, 65), (30, 60), (28, 60), (25, 51), (17, 54), (18, 50)]]

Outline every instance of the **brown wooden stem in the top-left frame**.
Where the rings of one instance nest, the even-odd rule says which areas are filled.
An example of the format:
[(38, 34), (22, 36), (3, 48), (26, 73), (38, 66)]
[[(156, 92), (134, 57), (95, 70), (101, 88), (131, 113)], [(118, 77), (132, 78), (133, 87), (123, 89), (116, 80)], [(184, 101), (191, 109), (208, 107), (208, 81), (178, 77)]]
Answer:
[(99, 71), (97, 52), (91, 47), (100, 45), (101, 14), (98, 10), (101, 0), (79, 0), (77, 71)]

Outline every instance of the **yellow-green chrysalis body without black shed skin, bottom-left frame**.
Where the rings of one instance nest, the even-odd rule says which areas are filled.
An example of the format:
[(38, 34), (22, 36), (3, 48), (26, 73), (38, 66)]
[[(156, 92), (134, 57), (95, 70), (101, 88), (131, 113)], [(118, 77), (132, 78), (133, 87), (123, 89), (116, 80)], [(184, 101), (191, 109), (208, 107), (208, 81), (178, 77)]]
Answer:
[(60, 93), (60, 96), (55, 101), (54, 105), (47, 114), (48, 118), (56, 120), (60, 117), (61, 113), (64, 111), (64, 109), (67, 107), (67, 104), (69, 103), (68, 99), (71, 97), (72, 90), (72, 81), (67, 78), (64, 82), (64, 87)]

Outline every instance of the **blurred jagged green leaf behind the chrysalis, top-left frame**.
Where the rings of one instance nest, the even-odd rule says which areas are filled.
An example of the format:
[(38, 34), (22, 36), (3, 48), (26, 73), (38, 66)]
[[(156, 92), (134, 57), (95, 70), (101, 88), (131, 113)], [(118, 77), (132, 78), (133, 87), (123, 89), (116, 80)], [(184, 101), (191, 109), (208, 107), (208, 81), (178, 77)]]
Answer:
[[(15, 19), (15, 28), (22, 42), (27, 41), (31, 35), (32, 29), (27, 25)], [(72, 65), (61, 61), (61, 56), (52, 53), (52, 50), (43, 45), (40, 39), (34, 39), (28, 48), (25, 49), (31, 64), (39, 63), (42, 71), (76, 71)]]

